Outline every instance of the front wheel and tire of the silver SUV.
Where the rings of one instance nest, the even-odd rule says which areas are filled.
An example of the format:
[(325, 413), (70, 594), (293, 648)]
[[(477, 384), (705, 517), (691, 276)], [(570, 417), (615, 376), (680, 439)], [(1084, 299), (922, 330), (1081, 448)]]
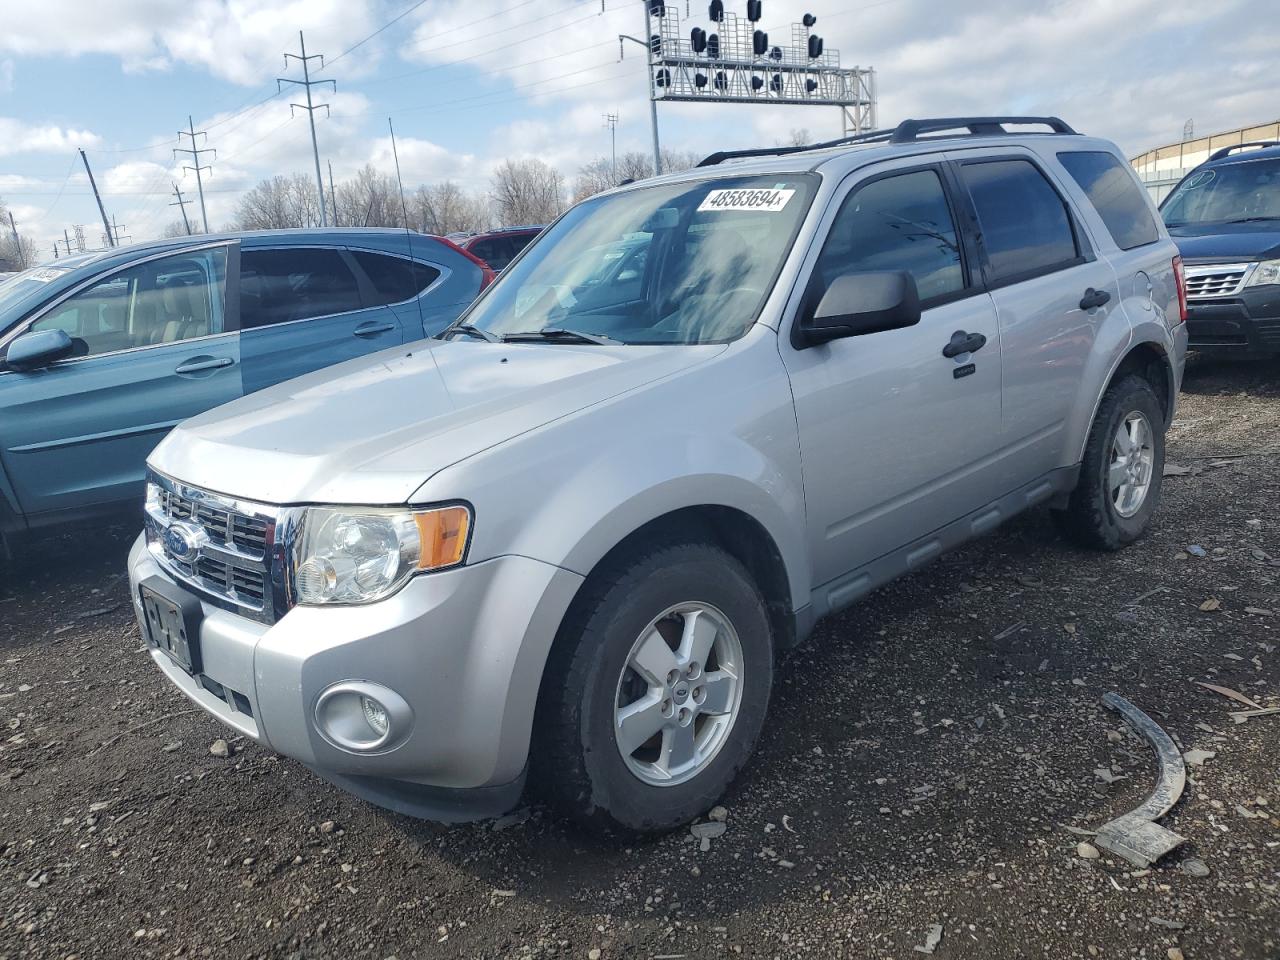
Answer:
[(602, 831), (687, 823), (746, 763), (772, 685), (764, 600), (733, 557), (680, 544), (612, 562), (548, 662), (534, 781)]

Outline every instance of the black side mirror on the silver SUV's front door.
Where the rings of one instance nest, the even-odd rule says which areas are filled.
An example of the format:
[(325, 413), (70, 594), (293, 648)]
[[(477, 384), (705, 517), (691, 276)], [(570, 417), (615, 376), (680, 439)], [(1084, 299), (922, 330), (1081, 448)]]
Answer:
[(796, 326), (796, 347), (897, 330), (918, 323), (920, 294), (911, 274), (905, 270), (845, 274), (822, 294), (813, 316)]

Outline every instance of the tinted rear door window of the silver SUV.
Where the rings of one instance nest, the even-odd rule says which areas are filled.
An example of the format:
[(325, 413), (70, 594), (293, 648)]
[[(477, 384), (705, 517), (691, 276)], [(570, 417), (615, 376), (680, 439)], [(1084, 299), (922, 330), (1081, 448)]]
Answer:
[(1079, 257), (1066, 204), (1028, 160), (965, 164), (960, 175), (982, 227), (991, 282), (1070, 266)]

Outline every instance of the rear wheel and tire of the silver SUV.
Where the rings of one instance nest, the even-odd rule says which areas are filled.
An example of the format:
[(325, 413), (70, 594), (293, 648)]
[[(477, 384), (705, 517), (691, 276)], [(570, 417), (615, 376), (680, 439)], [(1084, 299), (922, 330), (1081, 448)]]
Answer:
[(1080, 547), (1119, 550), (1147, 531), (1164, 471), (1165, 412), (1147, 380), (1125, 376), (1102, 396), (1075, 490), (1053, 521)]

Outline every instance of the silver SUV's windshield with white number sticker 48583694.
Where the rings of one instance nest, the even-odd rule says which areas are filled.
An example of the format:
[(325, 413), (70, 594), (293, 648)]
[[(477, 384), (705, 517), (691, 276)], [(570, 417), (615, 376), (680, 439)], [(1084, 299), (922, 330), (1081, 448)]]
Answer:
[(584, 201), (460, 324), (498, 338), (571, 330), (620, 343), (736, 339), (755, 323), (814, 188), (812, 174), (735, 177)]

